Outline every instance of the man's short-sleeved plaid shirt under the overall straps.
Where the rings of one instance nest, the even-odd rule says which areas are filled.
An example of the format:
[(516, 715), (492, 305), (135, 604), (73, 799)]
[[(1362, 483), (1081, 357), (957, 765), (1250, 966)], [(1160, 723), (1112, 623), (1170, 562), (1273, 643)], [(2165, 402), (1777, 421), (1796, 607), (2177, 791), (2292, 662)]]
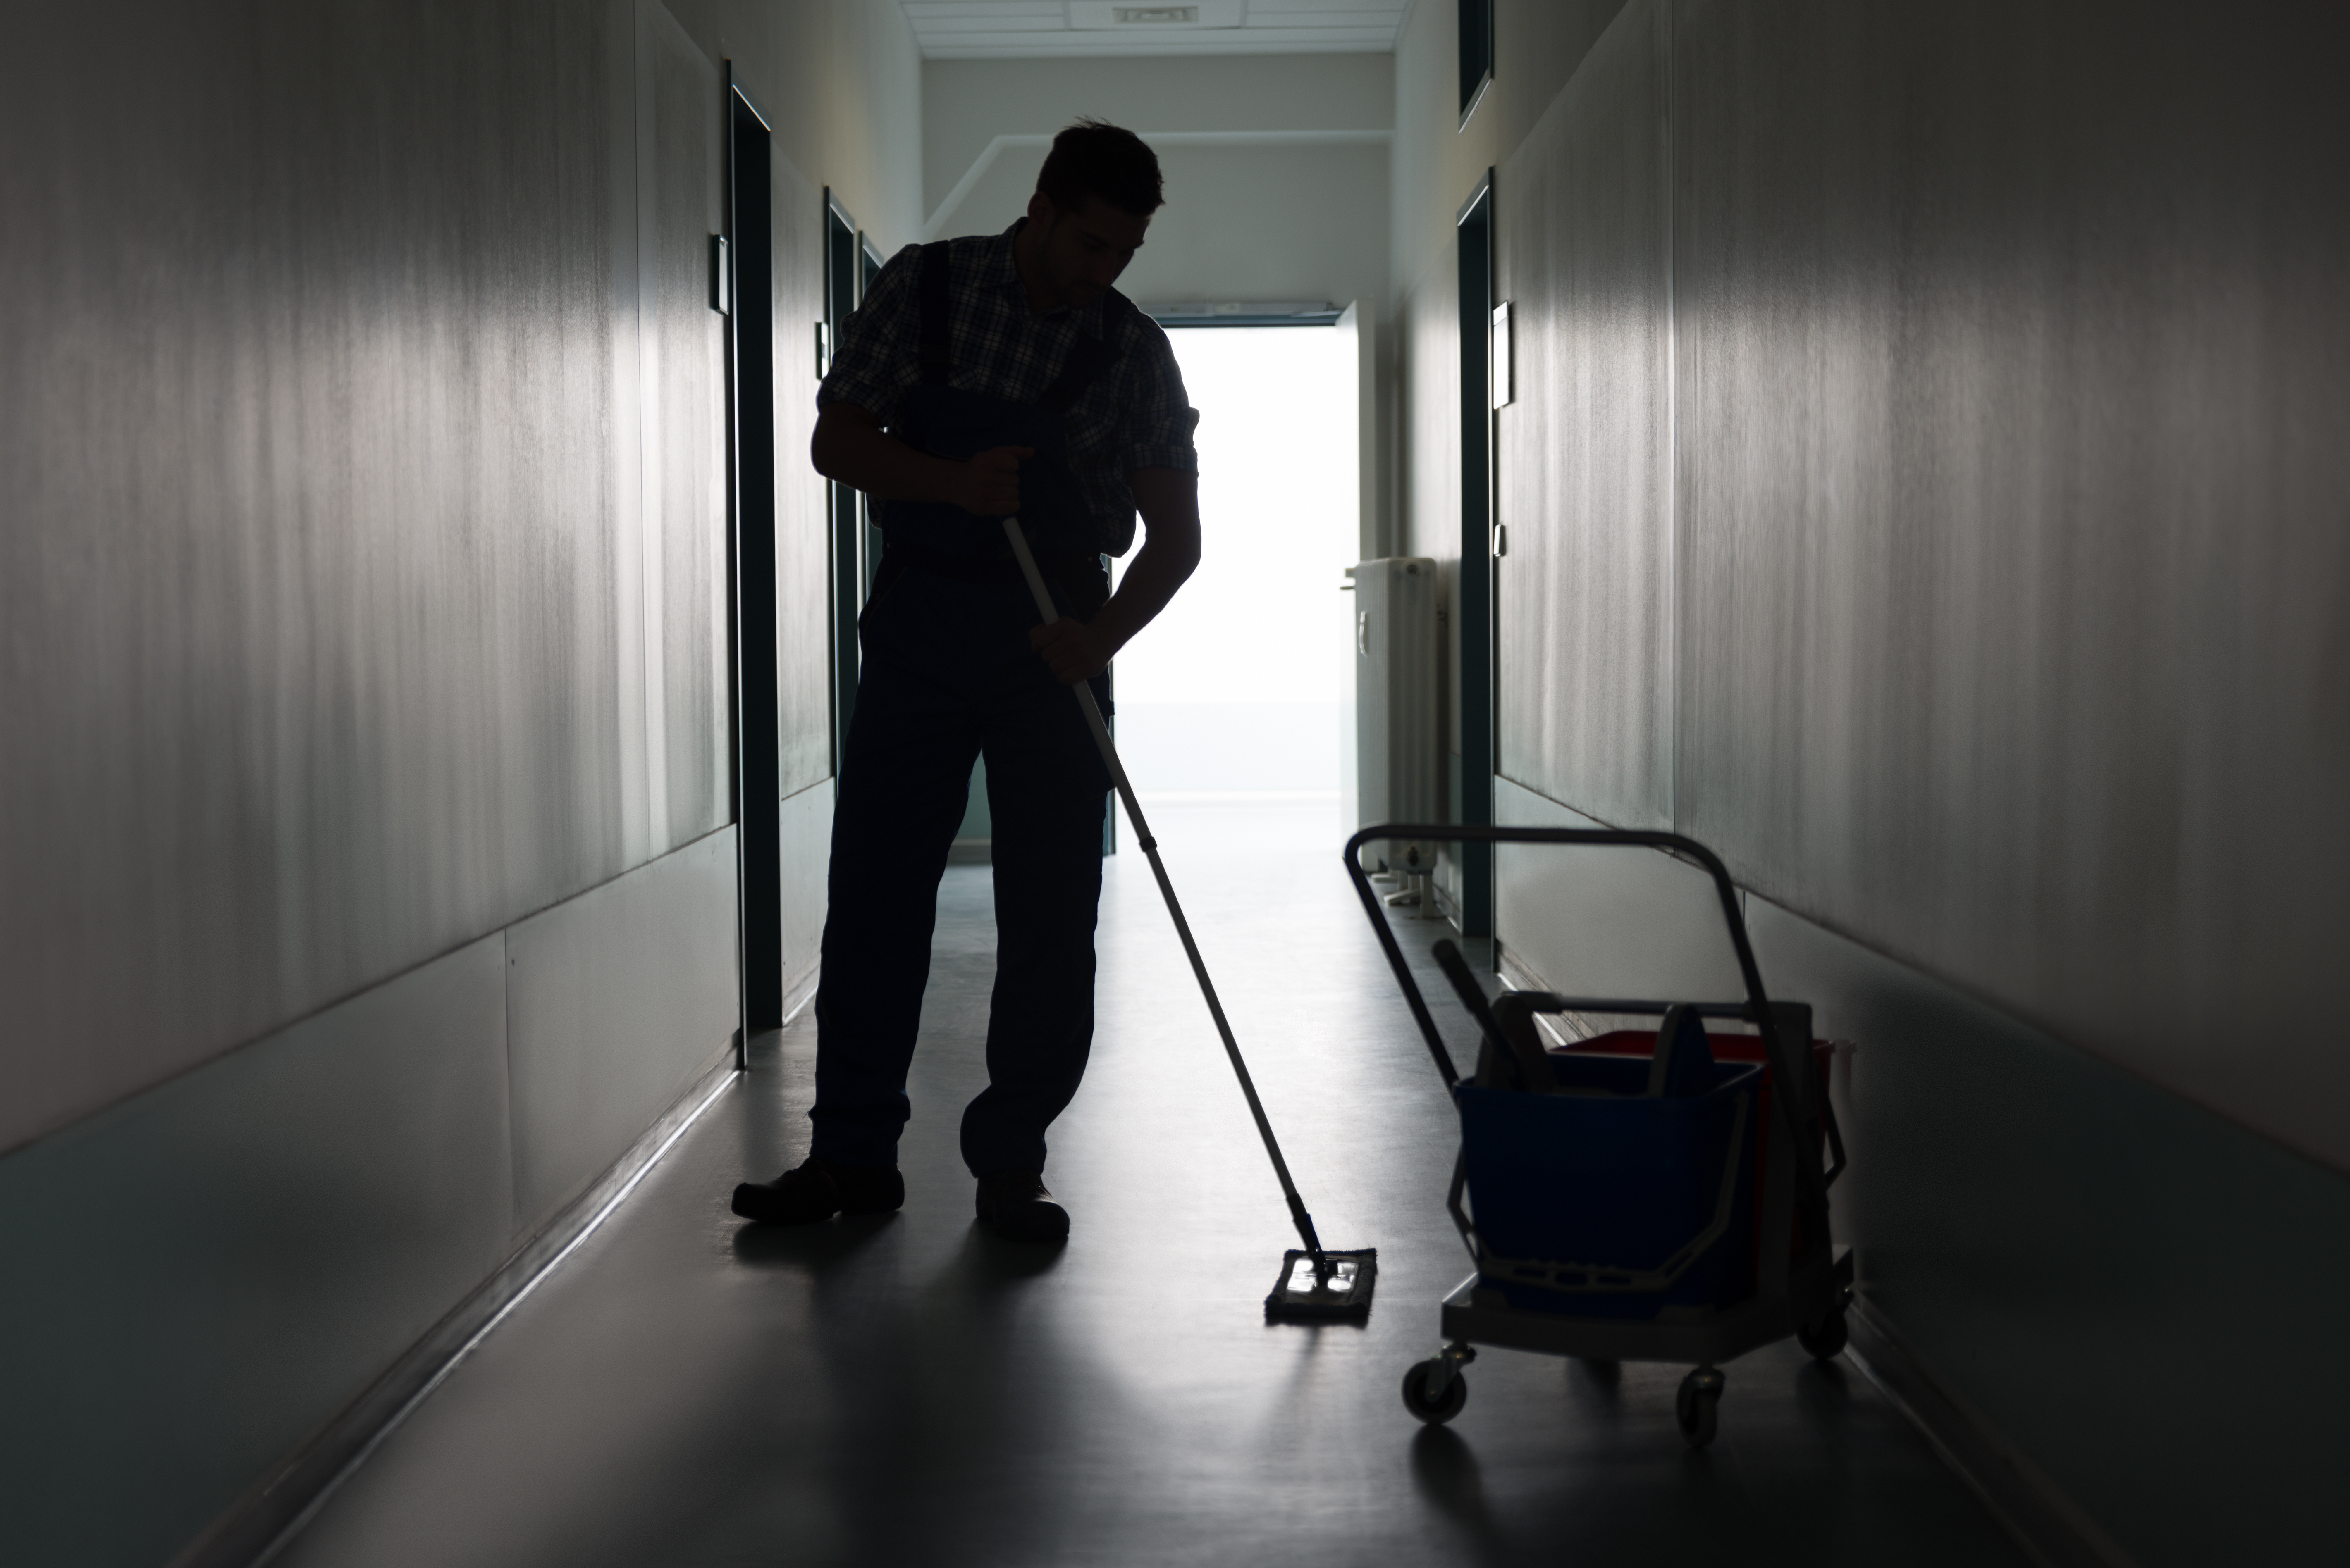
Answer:
[[(1020, 219), (1027, 223), (1027, 219)], [(1006, 402), (1036, 402), (1060, 374), (1076, 336), (1102, 334), (1102, 303), (1032, 315), (1013, 266), (1013, 223), (1001, 235), (949, 240), (947, 320), (954, 364), (947, 383)], [(1119, 357), (1067, 414), (1069, 468), (1100, 529), (1100, 545), (1126, 555), (1135, 543), (1137, 468), (1198, 473), (1191, 428), (1198, 414), (1182, 390), (1168, 334), (1140, 310), (1121, 313)], [(921, 381), (921, 247), (891, 256), (865, 303), (841, 329), (815, 407), (848, 402), (884, 425), (898, 423), (905, 393)]]

